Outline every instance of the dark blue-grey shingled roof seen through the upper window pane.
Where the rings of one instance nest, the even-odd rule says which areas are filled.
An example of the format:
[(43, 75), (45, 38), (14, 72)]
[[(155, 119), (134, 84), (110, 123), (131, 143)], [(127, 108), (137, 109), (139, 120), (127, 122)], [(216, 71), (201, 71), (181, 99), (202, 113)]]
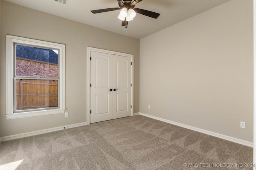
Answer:
[(58, 64), (58, 54), (50, 49), (16, 45), (16, 57)]

